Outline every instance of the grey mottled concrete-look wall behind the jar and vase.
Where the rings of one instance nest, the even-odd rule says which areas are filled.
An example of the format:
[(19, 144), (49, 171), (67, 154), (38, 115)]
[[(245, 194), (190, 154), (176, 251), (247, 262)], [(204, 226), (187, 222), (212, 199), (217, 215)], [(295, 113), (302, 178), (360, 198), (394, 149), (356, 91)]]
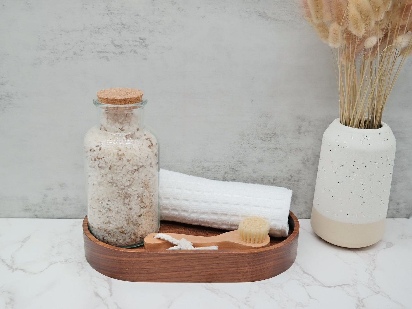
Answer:
[[(272, 1), (3, 1), (0, 216), (83, 218), (91, 100), (142, 89), (161, 167), (293, 190), (309, 218), (323, 131), (338, 117), (330, 49)], [(398, 147), (388, 217), (412, 205), (411, 74), (384, 122)]]

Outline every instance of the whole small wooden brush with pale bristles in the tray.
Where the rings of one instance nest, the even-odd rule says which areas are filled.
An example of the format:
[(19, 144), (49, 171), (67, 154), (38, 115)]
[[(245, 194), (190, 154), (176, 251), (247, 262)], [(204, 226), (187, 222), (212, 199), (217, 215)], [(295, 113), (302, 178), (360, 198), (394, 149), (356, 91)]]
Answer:
[[(219, 249), (256, 249), (267, 247), (270, 244), (269, 223), (262, 218), (249, 217), (243, 219), (237, 230), (216, 236), (194, 236), (186, 234), (167, 233), (174, 239), (182, 238), (190, 241), (193, 247), (218, 246)], [(145, 237), (145, 249), (148, 251), (164, 251), (175, 246), (164, 239), (155, 239), (159, 233), (152, 233)]]

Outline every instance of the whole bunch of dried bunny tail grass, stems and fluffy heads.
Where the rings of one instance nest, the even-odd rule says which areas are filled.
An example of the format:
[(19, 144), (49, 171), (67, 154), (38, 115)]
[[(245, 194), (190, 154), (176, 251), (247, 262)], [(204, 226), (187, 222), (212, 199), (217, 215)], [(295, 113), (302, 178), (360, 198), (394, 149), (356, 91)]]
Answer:
[[(336, 48), (342, 124), (376, 129), (406, 56), (412, 0), (302, 0), (323, 42)], [(367, 122), (363, 119), (367, 117)]]

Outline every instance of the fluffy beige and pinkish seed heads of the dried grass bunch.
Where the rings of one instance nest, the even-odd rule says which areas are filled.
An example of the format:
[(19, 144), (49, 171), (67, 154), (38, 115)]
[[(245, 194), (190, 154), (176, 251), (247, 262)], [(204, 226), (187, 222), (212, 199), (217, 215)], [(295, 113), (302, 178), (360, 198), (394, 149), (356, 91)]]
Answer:
[(395, 45), (403, 49), (409, 44), (409, 34), (402, 35), (412, 27), (412, 0), (301, 1), (304, 17), (321, 40), (332, 48), (344, 44), (341, 61), (363, 51), (373, 60), (384, 49)]

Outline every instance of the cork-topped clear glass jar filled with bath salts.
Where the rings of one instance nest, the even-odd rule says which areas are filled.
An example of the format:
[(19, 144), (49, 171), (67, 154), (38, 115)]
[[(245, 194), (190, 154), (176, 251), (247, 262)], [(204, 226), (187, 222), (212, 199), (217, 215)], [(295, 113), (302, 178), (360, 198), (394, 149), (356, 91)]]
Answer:
[(159, 231), (159, 143), (130, 88), (99, 91), (98, 125), (84, 136), (89, 230), (112, 246), (142, 245)]

